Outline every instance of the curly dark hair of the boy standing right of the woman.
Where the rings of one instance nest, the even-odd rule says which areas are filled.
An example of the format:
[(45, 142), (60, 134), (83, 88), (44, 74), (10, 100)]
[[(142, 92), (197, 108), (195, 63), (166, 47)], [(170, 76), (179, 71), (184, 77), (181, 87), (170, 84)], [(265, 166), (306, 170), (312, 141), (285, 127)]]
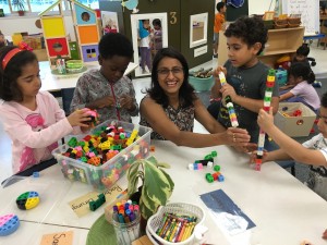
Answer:
[(262, 48), (256, 53), (258, 56), (264, 50), (265, 44), (268, 40), (268, 30), (259, 16), (242, 16), (228, 26), (225, 30), (225, 36), (241, 38), (247, 47), (261, 42)]

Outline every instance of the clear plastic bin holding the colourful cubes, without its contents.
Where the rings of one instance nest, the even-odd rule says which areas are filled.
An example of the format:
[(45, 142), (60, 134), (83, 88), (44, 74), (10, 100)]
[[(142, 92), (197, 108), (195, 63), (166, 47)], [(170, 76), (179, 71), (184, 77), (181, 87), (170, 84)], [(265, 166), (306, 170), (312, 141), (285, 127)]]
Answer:
[[(93, 135), (101, 127), (110, 125), (110, 122), (112, 121), (109, 120), (99, 124), (92, 130), (88, 135)], [(52, 151), (52, 155), (61, 166), (61, 171), (65, 177), (72, 181), (87, 183), (95, 189), (101, 192), (112, 186), (136, 159), (143, 159), (148, 156), (152, 128), (128, 122), (114, 122), (118, 126), (122, 126), (128, 133), (132, 133), (133, 130), (137, 130), (138, 138), (101, 166), (93, 166), (81, 160), (63, 156), (62, 154), (71, 148), (68, 144), (58, 147)], [(77, 140), (81, 140), (87, 134), (72, 135), (72, 137), (74, 136)]]

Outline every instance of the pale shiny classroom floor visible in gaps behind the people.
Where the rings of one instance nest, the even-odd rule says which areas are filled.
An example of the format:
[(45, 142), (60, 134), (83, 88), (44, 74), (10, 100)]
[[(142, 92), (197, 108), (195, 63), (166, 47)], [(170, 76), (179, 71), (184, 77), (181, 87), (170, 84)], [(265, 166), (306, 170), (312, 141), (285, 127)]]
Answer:
[[(311, 44), (311, 52), (310, 57), (316, 59), (316, 66), (313, 66), (313, 71), (316, 74), (317, 81), (323, 77), (327, 77), (327, 50), (323, 50), (323, 47), (317, 47), (317, 42), (313, 41)], [(215, 68), (217, 64), (217, 59), (213, 59), (199, 66), (208, 69)], [(196, 70), (197, 68), (193, 68)], [(134, 79), (134, 86), (136, 91), (136, 99), (140, 100), (143, 98), (145, 88), (149, 87), (150, 81), (149, 78), (140, 78)], [(327, 85), (323, 85), (327, 86)], [(133, 123), (138, 123), (138, 118), (133, 118)], [(205, 128), (195, 122), (195, 132), (206, 132)], [(9, 136), (3, 132), (3, 127), (0, 123), (0, 183), (9, 177), (12, 174), (11, 170), (11, 140)]]

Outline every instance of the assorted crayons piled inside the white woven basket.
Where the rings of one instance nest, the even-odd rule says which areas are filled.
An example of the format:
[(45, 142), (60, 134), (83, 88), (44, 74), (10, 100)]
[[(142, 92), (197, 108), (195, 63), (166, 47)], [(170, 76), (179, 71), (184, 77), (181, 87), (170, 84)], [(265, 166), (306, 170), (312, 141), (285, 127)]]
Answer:
[(196, 217), (178, 216), (165, 212), (162, 222), (158, 226), (156, 233), (168, 242), (182, 242), (192, 235), (196, 220)]

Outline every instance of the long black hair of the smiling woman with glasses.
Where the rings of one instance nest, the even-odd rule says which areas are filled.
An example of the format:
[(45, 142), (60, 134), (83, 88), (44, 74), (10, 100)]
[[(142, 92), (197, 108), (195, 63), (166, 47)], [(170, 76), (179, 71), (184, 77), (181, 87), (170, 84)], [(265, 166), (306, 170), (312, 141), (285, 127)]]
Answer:
[(180, 88), (179, 97), (182, 107), (190, 107), (196, 97), (194, 95), (194, 88), (189, 83), (189, 64), (183, 54), (171, 47), (162, 48), (156, 53), (153, 61), (152, 87), (146, 89), (146, 91), (157, 103), (162, 105), (165, 108), (168, 107), (168, 97), (159, 85), (157, 72), (159, 62), (166, 57), (177, 59), (183, 66), (184, 81)]

